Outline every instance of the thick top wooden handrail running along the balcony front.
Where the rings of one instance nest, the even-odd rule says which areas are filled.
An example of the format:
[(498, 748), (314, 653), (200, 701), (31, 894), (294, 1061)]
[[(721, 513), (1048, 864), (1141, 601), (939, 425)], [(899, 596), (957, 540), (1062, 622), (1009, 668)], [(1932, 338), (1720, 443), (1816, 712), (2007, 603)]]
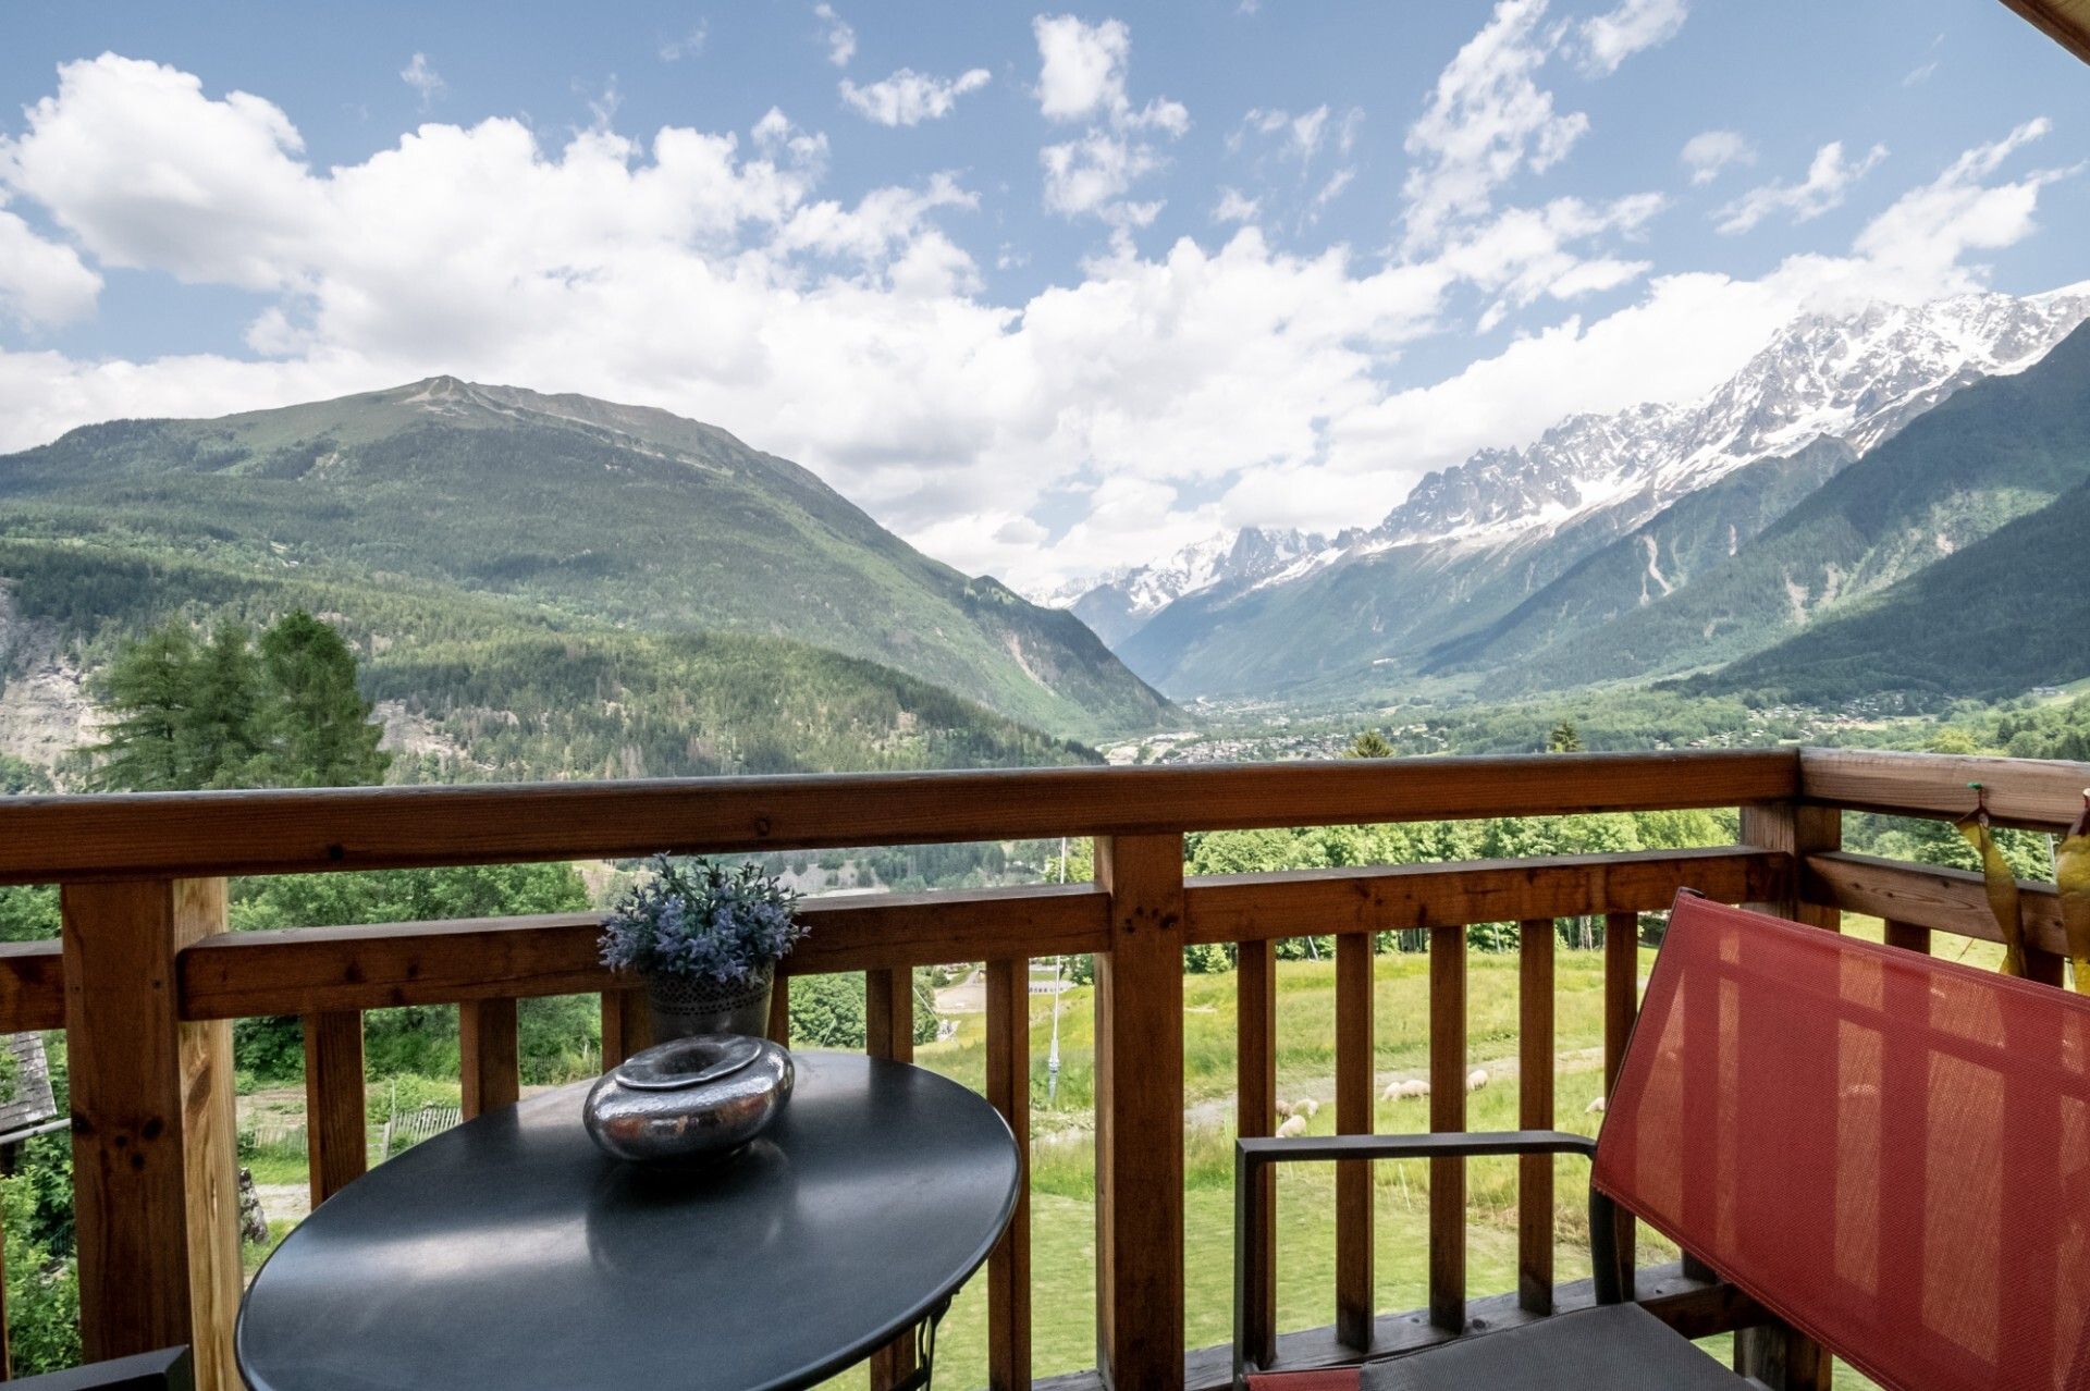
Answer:
[[(1789, 750), (0, 800), (0, 883), (1739, 806)], [(2082, 781), (2077, 781), (2077, 787)]]

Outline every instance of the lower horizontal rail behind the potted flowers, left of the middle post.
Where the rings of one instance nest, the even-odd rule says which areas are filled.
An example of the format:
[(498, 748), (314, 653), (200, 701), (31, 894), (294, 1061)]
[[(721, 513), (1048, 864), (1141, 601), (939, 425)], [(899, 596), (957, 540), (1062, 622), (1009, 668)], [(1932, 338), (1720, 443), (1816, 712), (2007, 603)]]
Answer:
[[(811, 900), (800, 904), (811, 934), (784, 971), (984, 961), (1014, 946), (1093, 952), (1106, 942), (1106, 911), (1089, 886)], [(591, 913), (240, 932), (182, 952), (182, 1013), (217, 1019), (617, 990), (600, 934)]]

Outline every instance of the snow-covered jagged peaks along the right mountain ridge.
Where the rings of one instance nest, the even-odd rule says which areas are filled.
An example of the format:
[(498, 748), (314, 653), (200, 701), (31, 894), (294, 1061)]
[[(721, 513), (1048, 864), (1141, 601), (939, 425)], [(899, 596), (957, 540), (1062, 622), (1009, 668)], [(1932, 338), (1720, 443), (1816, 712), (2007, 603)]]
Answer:
[(1365, 545), (1507, 541), (1620, 503), (1632, 526), (1816, 439), (1868, 453), (1967, 382), (2023, 372), (2086, 317), (2090, 282), (1806, 315), (1699, 401), (1572, 416), (1524, 449), (1482, 449), (1425, 476)]

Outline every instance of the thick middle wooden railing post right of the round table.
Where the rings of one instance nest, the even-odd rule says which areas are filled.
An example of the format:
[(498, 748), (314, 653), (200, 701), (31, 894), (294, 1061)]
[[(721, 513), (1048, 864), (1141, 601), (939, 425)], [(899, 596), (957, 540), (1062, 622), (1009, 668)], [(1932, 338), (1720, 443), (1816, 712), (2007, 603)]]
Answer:
[(1095, 959), (1097, 1366), (1120, 1391), (1183, 1385), (1183, 835), (1106, 835), (1110, 950)]

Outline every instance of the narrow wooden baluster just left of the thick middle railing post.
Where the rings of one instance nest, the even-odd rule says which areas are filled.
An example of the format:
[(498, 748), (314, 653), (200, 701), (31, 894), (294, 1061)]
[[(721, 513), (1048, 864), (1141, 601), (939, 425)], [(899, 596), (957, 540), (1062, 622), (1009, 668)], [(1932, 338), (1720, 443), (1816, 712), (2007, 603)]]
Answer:
[(1030, 961), (986, 963), (986, 1101), (1016, 1136), (1009, 1228), (986, 1257), (986, 1385), (1030, 1385)]

